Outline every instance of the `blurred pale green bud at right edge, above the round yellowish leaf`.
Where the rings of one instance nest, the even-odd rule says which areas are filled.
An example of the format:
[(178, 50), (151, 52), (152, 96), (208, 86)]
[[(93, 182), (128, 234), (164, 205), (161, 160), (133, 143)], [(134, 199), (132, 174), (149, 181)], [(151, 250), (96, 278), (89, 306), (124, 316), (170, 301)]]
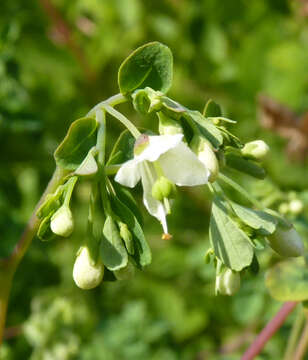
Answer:
[(287, 230), (278, 227), (267, 239), (270, 247), (281, 256), (297, 257), (304, 254), (304, 244), (293, 226)]

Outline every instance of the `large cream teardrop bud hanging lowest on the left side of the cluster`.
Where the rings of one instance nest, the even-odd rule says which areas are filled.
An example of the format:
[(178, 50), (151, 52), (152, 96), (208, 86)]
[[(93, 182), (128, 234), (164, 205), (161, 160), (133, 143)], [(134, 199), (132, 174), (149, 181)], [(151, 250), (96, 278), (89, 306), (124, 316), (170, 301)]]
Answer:
[(98, 286), (104, 276), (104, 265), (100, 259), (97, 263), (91, 259), (89, 249), (82, 246), (75, 260), (73, 278), (80, 289), (89, 290)]

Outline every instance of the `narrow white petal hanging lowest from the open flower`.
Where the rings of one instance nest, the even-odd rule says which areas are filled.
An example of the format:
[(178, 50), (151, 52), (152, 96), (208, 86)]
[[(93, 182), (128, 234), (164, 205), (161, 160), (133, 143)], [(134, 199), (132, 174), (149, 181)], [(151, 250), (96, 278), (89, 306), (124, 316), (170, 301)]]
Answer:
[(143, 186), (143, 203), (148, 212), (162, 224), (164, 232), (168, 233), (166, 211), (163, 204), (152, 196), (152, 186), (157, 179), (154, 166), (151, 163), (141, 164), (141, 181)]

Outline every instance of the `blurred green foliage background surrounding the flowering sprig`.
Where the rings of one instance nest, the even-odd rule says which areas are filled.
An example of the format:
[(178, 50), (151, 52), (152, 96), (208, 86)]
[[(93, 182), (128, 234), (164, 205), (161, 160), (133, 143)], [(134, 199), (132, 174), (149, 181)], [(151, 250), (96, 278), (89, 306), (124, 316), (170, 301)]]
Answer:
[[(234, 132), (244, 141), (269, 143), (272, 186), (286, 192), (307, 187), (305, 163), (288, 160), (286, 141), (262, 130), (256, 102), (261, 92), (298, 113), (308, 110), (304, 1), (4, 0), (1, 256), (11, 251), (45, 188), (55, 167), (53, 151), (69, 124), (117, 93), (123, 59), (153, 40), (174, 55), (170, 97), (196, 110), (213, 98), (238, 121)], [(153, 127), (131, 107), (121, 110), (138, 125)], [(121, 127), (108, 126), (108, 139), (115, 140)], [(263, 185), (247, 186), (257, 191)], [(266, 267), (278, 260), (269, 251), (260, 254), (260, 273), (245, 274), (236, 296), (214, 296), (214, 270), (204, 263), (210, 198), (198, 189), (182, 191), (175, 201), (171, 242), (160, 240), (159, 224), (145, 214), (153, 249), (145, 272), (95, 290), (78, 289), (71, 273), (85, 234), (88, 194), (84, 182), (73, 199), (72, 238), (34, 239), (22, 261), (1, 360), (238, 359), (281, 306), (264, 286)], [(281, 358), (291, 321), (292, 316), (259, 359)]]

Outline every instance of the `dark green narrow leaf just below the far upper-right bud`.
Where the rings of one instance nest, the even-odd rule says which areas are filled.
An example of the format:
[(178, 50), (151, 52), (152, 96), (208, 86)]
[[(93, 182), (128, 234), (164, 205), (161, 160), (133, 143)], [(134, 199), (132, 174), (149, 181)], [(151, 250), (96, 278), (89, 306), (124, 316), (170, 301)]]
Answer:
[(225, 154), (227, 166), (250, 175), (256, 179), (263, 180), (266, 176), (265, 170), (255, 162), (242, 158), (233, 153)]

